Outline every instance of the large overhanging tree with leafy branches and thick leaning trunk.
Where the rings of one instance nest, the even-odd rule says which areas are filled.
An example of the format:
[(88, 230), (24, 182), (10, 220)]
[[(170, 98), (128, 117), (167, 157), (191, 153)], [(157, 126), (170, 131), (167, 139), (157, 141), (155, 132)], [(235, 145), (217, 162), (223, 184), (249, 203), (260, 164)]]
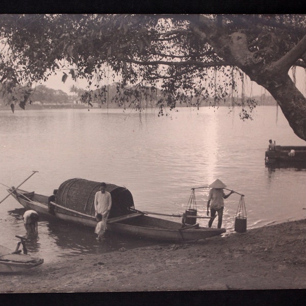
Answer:
[[(291, 67), (306, 68), (303, 15), (3, 15), (0, 29), (6, 95), (58, 73), (63, 82), (86, 79), (106, 100), (105, 84), (120, 80), (118, 104), (130, 96), (141, 110), (161, 88), (163, 114), (209, 97), (213, 105), (237, 105), (237, 82), (246, 74), (306, 139), (306, 101), (288, 76)], [(242, 104), (241, 118), (250, 118), (256, 104)]]

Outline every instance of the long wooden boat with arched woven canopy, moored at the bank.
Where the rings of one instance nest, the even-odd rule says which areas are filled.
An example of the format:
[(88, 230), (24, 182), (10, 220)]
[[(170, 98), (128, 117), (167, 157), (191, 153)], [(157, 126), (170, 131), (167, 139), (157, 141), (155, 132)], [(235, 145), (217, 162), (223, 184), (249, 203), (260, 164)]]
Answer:
[[(100, 183), (84, 179), (70, 179), (54, 190), (52, 196), (9, 188), (13, 197), (25, 208), (49, 218), (94, 228), (94, 195)], [(159, 241), (190, 241), (220, 235), (225, 228), (201, 227), (198, 223), (183, 225), (179, 222), (155, 218), (134, 207), (131, 192), (125, 187), (107, 184), (112, 196), (112, 208), (107, 231), (122, 235)]]

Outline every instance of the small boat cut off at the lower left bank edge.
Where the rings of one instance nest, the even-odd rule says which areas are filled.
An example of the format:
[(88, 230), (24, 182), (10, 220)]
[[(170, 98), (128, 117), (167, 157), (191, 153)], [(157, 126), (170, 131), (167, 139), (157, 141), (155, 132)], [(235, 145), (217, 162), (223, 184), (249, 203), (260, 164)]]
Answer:
[[(21, 238), (19, 236), (16, 236)], [(39, 266), (43, 263), (43, 259), (29, 256), (24, 252), (26, 250), (23, 245), (23, 254), (21, 250), (18, 250), (20, 243), (24, 244), (24, 241), (18, 242), (15, 251), (0, 245), (0, 272), (21, 272), (30, 268)]]

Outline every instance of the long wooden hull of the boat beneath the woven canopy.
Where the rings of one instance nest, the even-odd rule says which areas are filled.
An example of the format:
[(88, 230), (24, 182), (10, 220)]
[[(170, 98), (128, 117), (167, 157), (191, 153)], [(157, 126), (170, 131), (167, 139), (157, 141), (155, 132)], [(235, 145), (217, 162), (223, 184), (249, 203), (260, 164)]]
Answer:
[[(26, 191), (18, 191), (26, 193)], [(94, 228), (96, 226), (95, 218), (90, 215), (80, 216), (78, 212), (74, 214), (73, 212), (67, 212), (64, 209), (61, 210), (58, 208), (51, 214), (47, 202), (45, 202), (47, 199), (46, 196), (35, 194), (34, 198), (36, 200), (29, 201), (20, 196), (17, 197), (16, 194), (12, 195), (25, 209), (33, 209), (38, 214), (87, 227)], [(38, 201), (38, 199), (41, 201)], [(179, 222), (140, 215), (133, 219), (108, 223), (107, 231), (120, 235), (158, 241), (190, 241), (220, 235), (225, 232), (225, 228), (198, 227), (182, 230), (182, 224)]]

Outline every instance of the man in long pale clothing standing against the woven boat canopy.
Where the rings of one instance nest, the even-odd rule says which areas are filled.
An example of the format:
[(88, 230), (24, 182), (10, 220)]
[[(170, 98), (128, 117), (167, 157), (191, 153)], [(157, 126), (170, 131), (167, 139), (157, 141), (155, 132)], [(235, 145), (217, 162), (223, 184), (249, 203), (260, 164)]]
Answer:
[(96, 192), (94, 196), (94, 209), (95, 209), (95, 215), (101, 214), (103, 217), (102, 218), (103, 233), (105, 233), (106, 230), (106, 222), (109, 213), (111, 211), (111, 207), (112, 207), (112, 196), (108, 191), (106, 191), (106, 184), (101, 183), (100, 190)]

